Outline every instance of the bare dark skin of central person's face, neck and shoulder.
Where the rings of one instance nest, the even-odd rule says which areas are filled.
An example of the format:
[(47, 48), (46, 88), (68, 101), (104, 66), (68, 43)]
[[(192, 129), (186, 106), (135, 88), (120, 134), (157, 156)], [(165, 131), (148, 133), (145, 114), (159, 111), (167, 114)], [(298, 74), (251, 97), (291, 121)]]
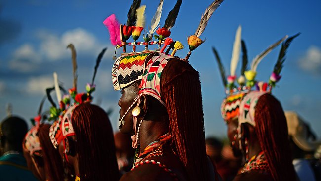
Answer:
[[(137, 97), (138, 84), (131, 85), (122, 90), (122, 96), (119, 100), (120, 117), (124, 115), (128, 107), (132, 104)], [(147, 114), (144, 117), (144, 121), (141, 124), (139, 130), (139, 143), (141, 152), (153, 141), (168, 133), (169, 131), (169, 119), (166, 108), (156, 99), (151, 96), (145, 96), (141, 98), (142, 105), (147, 104)], [(140, 106), (141, 106), (140, 104)], [(143, 107), (143, 106), (141, 106)], [(142, 117), (137, 118), (137, 126)], [(121, 128), (122, 133), (133, 134), (133, 116), (131, 111), (125, 117), (125, 124)], [(187, 180), (184, 166), (180, 162), (179, 158), (175, 155), (172, 147), (169, 144), (163, 146), (162, 157), (150, 157), (148, 160), (155, 160), (171, 168), (181, 181)], [(154, 164), (143, 164), (135, 168), (133, 171), (123, 175), (120, 181), (173, 181), (173, 177), (164, 169)]]

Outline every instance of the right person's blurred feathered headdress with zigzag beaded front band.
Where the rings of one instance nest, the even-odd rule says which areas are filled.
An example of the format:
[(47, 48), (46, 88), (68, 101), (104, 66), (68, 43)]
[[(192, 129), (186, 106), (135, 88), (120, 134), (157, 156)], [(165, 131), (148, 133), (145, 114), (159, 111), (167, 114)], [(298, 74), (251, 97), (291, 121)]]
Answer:
[[(241, 40), (241, 26), (239, 26), (235, 36), (235, 42), (233, 45), (233, 53), (231, 58), (231, 74), (227, 78), (225, 76), (224, 67), (221, 63), (219, 55), (216, 49), (213, 47), (213, 52), (218, 62), (221, 77), (222, 77), (222, 82), (225, 87), (225, 93), (227, 94), (227, 97), (223, 100), (221, 104), (221, 114), (225, 121), (237, 118), (241, 100), (244, 97), (244, 95), (246, 95), (246, 93), (248, 93), (251, 90), (252, 87), (255, 87), (256, 90), (271, 91), (272, 87), (275, 86), (275, 83), (278, 82), (281, 78), (281, 76), (279, 75), (281, 72), (282, 64), (285, 61), (286, 49), (291, 43), (291, 41), (298, 35), (299, 34), (296, 34), (288, 38), (285, 42), (283, 42), (288, 37), (288, 36), (285, 36), (275, 44), (270, 45), (265, 51), (263, 51), (261, 54), (257, 55), (253, 59), (251, 64), (251, 69), (247, 70), (247, 62), (248, 62), (247, 50), (246, 50), (245, 42)], [(255, 76), (256, 76), (257, 65), (270, 51), (272, 51), (272, 49), (274, 49), (276, 46), (278, 46), (282, 42), (283, 44), (280, 50), (279, 58), (275, 65), (274, 71), (270, 76), (269, 83), (256, 81)], [(235, 70), (236, 70), (238, 59), (240, 56), (240, 47), (242, 47), (243, 59), (242, 59), (242, 67), (241, 67), (241, 76), (237, 79), (237, 82), (238, 82), (238, 87), (237, 87), (234, 82), (236, 79)]]

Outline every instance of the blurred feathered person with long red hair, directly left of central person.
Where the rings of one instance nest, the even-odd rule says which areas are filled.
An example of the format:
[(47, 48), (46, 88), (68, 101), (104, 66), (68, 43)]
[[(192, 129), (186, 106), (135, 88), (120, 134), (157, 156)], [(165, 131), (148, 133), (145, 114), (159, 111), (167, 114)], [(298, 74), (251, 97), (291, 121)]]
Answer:
[[(74, 64), (74, 84), (69, 90), (74, 102), (68, 101), (66, 104), (63, 99), (59, 101), (60, 108), (56, 111), (59, 114), (56, 114), (54, 120), (58, 120), (57, 123), (60, 120), (60, 125), (59, 128), (53, 128), (54, 133), (50, 133), (51, 138), (55, 139), (52, 143), (58, 148), (65, 163), (67, 178), (75, 181), (117, 181), (120, 175), (110, 120), (102, 108), (91, 104), (95, 75), (106, 48), (97, 58), (93, 79), (87, 84), (86, 92), (78, 93), (76, 51), (74, 45), (70, 44), (68, 47), (72, 50)], [(55, 128), (61, 132), (55, 134)]]

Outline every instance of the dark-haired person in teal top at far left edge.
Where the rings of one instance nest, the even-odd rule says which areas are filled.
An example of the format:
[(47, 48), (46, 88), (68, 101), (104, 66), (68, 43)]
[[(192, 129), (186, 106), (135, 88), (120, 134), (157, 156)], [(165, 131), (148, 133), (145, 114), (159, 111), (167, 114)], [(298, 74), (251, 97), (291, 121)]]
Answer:
[(28, 131), (27, 123), (18, 116), (5, 118), (0, 124), (0, 181), (37, 181), (22, 155), (22, 140)]

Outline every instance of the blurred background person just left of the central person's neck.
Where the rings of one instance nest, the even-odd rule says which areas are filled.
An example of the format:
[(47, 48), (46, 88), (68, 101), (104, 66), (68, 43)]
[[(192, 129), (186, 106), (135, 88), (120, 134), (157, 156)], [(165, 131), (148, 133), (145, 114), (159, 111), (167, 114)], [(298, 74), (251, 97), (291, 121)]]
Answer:
[(129, 172), (134, 164), (135, 149), (131, 146), (131, 136), (117, 132), (114, 134), (116, 158), (120, 175)]

